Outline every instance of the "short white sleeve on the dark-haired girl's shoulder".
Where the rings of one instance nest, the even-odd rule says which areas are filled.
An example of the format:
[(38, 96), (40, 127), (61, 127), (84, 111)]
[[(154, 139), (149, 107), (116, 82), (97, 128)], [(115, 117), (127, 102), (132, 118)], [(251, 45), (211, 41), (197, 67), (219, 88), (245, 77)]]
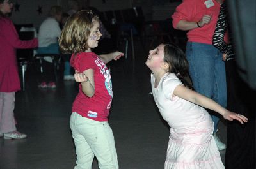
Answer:
[(163, 81), (164, 96), (167, 99), (172, 99), (172, 95), (175, 87), (177, 87), (177, 85), (180, 85), (180, 84), (182, 84), (182, 82), (180, 82), (179, 78), (174, 77), (174, 75), (172, 77), (168, 77), (164, 79)]

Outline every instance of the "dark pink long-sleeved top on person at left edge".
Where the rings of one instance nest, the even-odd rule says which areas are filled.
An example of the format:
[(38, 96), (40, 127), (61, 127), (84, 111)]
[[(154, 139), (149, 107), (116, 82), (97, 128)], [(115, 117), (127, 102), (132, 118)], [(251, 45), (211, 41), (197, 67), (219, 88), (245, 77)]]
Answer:
[(19, 35), (10, 18), (0, 17), (0, 92), (20, 90), (16, 48), (38, 47), (35, 38), (29, 41), (19, 40)]

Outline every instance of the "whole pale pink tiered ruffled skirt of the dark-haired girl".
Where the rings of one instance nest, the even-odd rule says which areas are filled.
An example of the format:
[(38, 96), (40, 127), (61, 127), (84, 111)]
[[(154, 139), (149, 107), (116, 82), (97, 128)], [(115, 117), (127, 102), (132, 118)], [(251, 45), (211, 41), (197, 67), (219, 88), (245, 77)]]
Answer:
[(178, 138), (173, 138), (171, 132), (165, 169), (225, 168), (211, 131), (186, 135), (182, 139), (178, 136)]

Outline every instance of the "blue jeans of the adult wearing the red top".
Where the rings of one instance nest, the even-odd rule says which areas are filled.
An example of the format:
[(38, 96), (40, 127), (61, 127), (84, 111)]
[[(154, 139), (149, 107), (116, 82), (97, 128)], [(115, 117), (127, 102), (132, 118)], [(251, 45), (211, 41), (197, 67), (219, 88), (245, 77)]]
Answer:
[[(225, 62), (222, 53), (213, 45), (188, 42), (186, 57), (189, 62), (189, 74), (196, 92), (212, 98), (222, 107), (227, 106), (227, 85)], [(216, 115), (211, 115), (214, 122), (214, 132), (220, 121)]]

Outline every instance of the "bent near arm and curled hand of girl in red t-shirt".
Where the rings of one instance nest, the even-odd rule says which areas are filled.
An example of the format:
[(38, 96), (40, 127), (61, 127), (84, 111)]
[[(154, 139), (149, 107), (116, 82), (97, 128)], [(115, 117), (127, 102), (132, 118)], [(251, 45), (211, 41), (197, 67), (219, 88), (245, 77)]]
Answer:
[(80, 73), (76, 70), (74, 75), (76, 82), (80, 82), (82, 85), (83, 93), (92, 98), (95, 93), (95, 85), (94, 85), (94, 71), (93, 69), (85, 70), (83, 73)]

